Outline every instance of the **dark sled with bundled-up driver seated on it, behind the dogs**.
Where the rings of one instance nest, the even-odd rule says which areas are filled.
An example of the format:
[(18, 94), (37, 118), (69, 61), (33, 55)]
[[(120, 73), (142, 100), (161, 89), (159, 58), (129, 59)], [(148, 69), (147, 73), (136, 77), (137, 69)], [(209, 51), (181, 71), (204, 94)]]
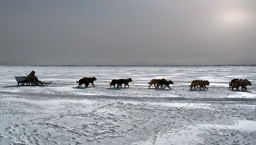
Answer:
[(47, 86), (49, 84), (52, 83), (52, 81), (50, 82), (44, 82), (44, 81), (40, 81), (38, 80), (37, 76), (35, 75), (36, 72), (35, 71), (31, 71), (31, 73), (27, 76), (14, 76), (18, 86), (21, 85), (37, 85), (37, 86)]

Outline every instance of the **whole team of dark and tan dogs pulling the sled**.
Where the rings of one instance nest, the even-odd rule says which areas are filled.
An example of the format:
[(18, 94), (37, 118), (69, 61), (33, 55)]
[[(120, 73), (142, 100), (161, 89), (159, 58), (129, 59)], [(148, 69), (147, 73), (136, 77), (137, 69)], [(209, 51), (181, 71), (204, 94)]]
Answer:
[[(89, 86), (90, 83), (92, 83), (92, 85), (94, 86), (93, 82), (96, 81), (97, 79), (95, 77), (84, 77), (82, 79), (80, 79), (79, 81), (76, 81), (76, 83), (78, 83), (78, 87), (82, 87), (82, 84), (85, 84), (85, 87), (87, 88)], [(113, 79), (109, 84), (110, 87), (113, 85), (115, 88), (115, 85), (117, 84), (117, 88), (122, 88), (122, 84), (124, 84), (124, 87), (128, 86), (129, 87), (129, 82), (132, 82), (131, 78), (128, 79)], [(149, 83), (149, 87), (154, 85), (154, 87), (157, 89), (159, 88), (159, 86), (161, 87), (161, 89), (164, 89), (166, 86), (170, 88), (170, 84), (174, 83), (173, 81), (167, 81), (166, 79), (152, 79)], [(192, 89), (194, 87), (194, 89), (196, 89), (195, 87), (199, 88), (200, 90), (203, 88), (207, 88), (206, 86), (209, 86), (210, 82), (207, 80), (193, 80), (190, 84), (190, 89)], [(247, 79), (232, 79), (230, 84), (229, 84), (229, 89), (231, 88), (232, 90), (234, 88), (238, 89), (240, 86), (242, 88), (242, 90), (246, 90), (246, 86), (251, 86), (251, 82), (248, 81)], [(199, 87), (198, 87), (199, 86)], [(95, 86), (94, 86), (95, 87)], [(148, 88), (149, 88), (148, 87)], [(208, 89), (208, 88), (207, 88)]]

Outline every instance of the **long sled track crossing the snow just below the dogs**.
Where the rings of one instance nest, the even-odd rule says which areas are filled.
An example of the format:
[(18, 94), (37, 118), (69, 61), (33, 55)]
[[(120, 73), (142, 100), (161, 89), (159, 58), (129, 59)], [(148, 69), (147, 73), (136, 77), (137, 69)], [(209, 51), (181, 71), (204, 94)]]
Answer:
[(248, 104), (256, 105), (256, 98), (185, 98), (185, 97), (127, 97), (104, 95), (73, 95), (73, 94), (40, 94), (40, 93), (15, 93), (0, 91), (4, 97), (15, 96), (28, 99), (90, 99), (90, 100), (116, 100), (116, 101), (143, 101), (166, 103), (204, 103), (204, 104)]

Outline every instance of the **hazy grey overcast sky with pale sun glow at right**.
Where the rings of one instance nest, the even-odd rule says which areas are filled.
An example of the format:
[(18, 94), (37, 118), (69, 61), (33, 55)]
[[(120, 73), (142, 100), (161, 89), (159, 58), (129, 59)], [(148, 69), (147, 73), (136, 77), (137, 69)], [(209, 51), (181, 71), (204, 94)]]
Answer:
[(0, 0), (0, 65), (256, 64), (256, 0)]

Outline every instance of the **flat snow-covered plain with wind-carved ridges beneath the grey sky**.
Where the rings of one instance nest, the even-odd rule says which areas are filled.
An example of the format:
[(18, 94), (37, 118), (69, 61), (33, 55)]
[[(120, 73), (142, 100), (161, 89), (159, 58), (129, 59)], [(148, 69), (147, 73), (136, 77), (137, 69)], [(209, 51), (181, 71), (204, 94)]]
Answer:
[[(53, 83), (17, 86), (32, 70)], [(91, 76), (96, 87), (78, 88)], [(121, 78), (129, 88), (110, 88)], [(232, 91), (234, 78), (253, 85)], [(190, 90), (194, 79), (208, 89)], [(0, 144), (255, 145), (255, 80), (256, 66), (0, 66)]]

